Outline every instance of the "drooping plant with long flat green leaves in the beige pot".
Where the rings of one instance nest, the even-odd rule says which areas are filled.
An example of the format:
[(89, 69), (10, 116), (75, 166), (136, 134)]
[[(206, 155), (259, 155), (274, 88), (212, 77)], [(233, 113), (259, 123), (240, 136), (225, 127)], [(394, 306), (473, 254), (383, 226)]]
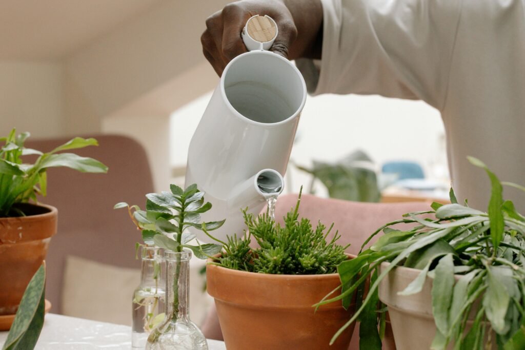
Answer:
[[(434, 279), (432, 309), (437, 331), (432, 349), (445, 349), (450, 342), (455, 349), (484, 349), (487, 344), (490, 348), (491, 330), (499, 348), (525, 348), (525, 217), (511, 201), (503, 200), (502, 184), (508, 183), (500, 183), (476, 158), (469, 161), (485, 169), (490, 178), (488, 213), (458, 204), (450, 190), (452, 204), (433, 203), (432, 210), (406, 214), (375, 231), (363, 247), (379, 232), (384, 235), (369, 249), (362, 248), (357, 258), (338, 266), (340, 296), (318, 304), (342, 300), (348, 307), (357, 294), (359, 309), (332, 342), (345, 327), (360, 320), (361, 348), (381, 348), (385, 313), (377, 288), (393, 268), (405, 266), (421, 272), (399, 294), (418, 293), (427, 277)], [(416, 226), (406, 231), (391, 228), (400, 223)], [(390, 264), (380, 271), (383, 262)], [(454, 275), (459, 275), (457, 282)], [(370, 289), (365, 295), (368, 278)], [(467, 331), (469, 314), (476, 316)]]

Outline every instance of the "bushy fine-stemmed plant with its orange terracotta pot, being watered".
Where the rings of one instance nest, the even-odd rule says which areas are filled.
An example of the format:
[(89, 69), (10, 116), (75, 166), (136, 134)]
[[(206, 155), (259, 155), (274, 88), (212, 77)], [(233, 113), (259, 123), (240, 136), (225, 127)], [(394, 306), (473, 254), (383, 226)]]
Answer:
[[(222, 254), (208, 260), (207, 291), (215, 298), (228, 349), (328, 348), (333, 332), (353, 313), (353, 305), (345, 310), (341, 302), (312, 308), (340, 284), (335, 272), (348, 259), (347, 247), (337, 245), (337, 232), (325, 240), (333, 224), (327, 230), (320, 222), (313, 228), (308, 219), (299, 220), (300, 200), (299, 194), (283, 226), (268, 213), (255, 218), (244, 211), (244, 235), (219, 241)], [(347, 328), (331, 348), (346, 350), (352, 331)]]

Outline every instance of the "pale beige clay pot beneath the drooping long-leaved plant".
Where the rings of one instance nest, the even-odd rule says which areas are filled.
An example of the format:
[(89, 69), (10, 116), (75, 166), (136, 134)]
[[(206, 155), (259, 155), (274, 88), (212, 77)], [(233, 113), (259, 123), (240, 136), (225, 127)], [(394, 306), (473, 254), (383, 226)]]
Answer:
[[(382, 263), (385, 269), (390, 263)], [(432, 282), (426, 278), (421, 292), (413, 295), (397, 295), (404, 290), (421, 272), (421, 270), (396, 267), (386, 275), (379, 285), (379, 299), (388, 306), (388, 314), (392, 323), (395, 346), (398, 349), (429, 349), (436, 334), (436, 324), (432, 314)], [(456, 275), (456, 281), (460, 278)], [(474, 319), (475, 312), (471, 312), (470, 319)], [(470, 329), (467, 322), (466, 331)], [(496, 339), (496, 334), (492, 334)], [(492, 342), (492, 349), (496, 350), (496, 342)], [(448, 349), (453, 349), (453, 344)]]

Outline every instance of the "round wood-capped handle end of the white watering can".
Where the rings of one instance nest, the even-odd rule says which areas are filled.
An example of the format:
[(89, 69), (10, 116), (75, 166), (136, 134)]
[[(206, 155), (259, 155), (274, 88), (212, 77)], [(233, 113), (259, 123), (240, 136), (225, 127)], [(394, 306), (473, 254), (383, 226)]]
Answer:
[(277, 38), (277, 23), (270, 16), (251, 16), (243, 28), (241, 37), (248, 51), (269, 50)]

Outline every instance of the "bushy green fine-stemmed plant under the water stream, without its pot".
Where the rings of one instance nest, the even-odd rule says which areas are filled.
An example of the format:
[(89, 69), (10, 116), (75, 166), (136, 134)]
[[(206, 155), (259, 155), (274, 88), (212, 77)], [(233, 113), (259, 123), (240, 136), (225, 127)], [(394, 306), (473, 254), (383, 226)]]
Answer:
[[(300, 202), (301, 193), (295, 208), (291, 208), (284, 217), (283, 226), (276, 224), (269, 213), (255, 218), (243, 210), (247, 230), (242, 237), (229, 236), (227, 242), (222, 242), (210, 235), (224, 248), (222, 255), (214, 258), (216, 262), (213, 263), (234, 270), (271, 274), (337, 272), (338, 264), (346, 260), (344, 250), (348, 246), (337, 244), (341, 237), (338, 232), (330, 241), (326, 241), (333, 224), (326, 230), (318, 222), (314, 229), (310, 220), (299, 220)], [(205, 226), (205, 232), (207, 228)], [(250, 248), (251, 237), (255, 238), (259, 248)]]

